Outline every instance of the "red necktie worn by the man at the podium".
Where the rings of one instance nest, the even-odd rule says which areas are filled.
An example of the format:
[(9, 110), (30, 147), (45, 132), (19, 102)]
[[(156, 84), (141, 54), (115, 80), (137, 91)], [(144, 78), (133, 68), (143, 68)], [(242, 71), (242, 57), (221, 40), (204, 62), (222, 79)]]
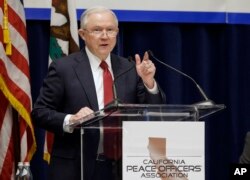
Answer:
[[(110, 103), (113, 99), (113, 79), (105, 61), (102, 61), (100, 67), (103, 69), (103, 90), (104, 90), (104, 105)], [(117, 130), (119, 124), (114, 121), (112, 117), (104, 119), (104, 136), (103, 136), (103, 150), (104, 155), (111, 159), (118, 159), (121, 157), (121, 131)], [(111, 127), (111, 128), (105, 128)]]

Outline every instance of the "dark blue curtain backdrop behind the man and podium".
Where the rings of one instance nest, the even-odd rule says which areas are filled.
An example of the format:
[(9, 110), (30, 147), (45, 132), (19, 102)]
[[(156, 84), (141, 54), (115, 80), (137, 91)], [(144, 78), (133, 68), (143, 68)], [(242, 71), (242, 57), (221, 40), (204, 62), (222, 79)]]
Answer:
[[(120, 23), (115, 52), (128, 57), (152, 50), (159, 59), (192, 76), (217, 104), (226, 109), (206, 122), (206, 180), (229, 179), (230, 163), (238, 162), (250, 130), (250, 25)], [(49, 21), (27, 22), (33, 101), (48, 69)], [(156, 78), (169, 104), (202, 100), (194, 84), (155, 63)], [(42, 160), (43, 131), (36, 128), (38, 149), (32, 160), (34, 179), (46, 179)]]

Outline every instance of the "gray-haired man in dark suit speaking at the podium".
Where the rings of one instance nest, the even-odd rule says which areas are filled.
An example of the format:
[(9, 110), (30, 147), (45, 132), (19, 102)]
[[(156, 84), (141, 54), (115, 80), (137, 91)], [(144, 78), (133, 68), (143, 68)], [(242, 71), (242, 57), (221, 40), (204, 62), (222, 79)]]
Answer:
[[(113, 11), (105, 7), (87, 9), (81, 16), (79, 29), (85, 47), (49, 67), (32, 117), (35, 125), (55, 135), (50, 179), (80, 179), (80, 132), (67, 125), (104, 108), (102, 61), (108, 65), (113, 79), (135, 66), (115, 83), (117, 96), (123, 103), (165, 103), (165, 95), (154, 79), (156, 68), (147, 53), (142, 59), (135, 55), (135, 64), (111, 53), (118, 31), (118, 20)], [(105, 167), (98, 167), (109, 162), (105, 157), (101, 163), (98, 159), (103, 153), (100, 132), (99, 129), (84, 132), (85, 180), (114, 179), (106, 176), (107, 171), (102, 170)]]

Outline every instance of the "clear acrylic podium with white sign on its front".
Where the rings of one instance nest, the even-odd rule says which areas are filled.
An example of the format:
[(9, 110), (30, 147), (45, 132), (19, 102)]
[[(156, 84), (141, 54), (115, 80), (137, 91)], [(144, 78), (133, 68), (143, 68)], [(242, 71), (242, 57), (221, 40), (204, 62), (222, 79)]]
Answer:
[[(119, 177), (119, 179), (136, 180), (150, 179), (151, 177), (151, 179), (164, 180), (167, 176), (173, 177), (174, 175), (177, 176), (176, 174), (178, 174), (179, 179), (182, 179), (180, 176), (183, 179), (186, 177), (186, 179), (195, 180), (196, 178), (191, 178), (192, 176), (197, 176), (199, 180), (205, 179), (205, 162), (203, 162), (205, 138), (202, 118), (224, 108), (223, 104), (111, 104), (105, 109), (94, 112), (79, 122), (70, 124), (71, 128), (80, 128), (81, 132), (81, 179), (84, 179), (84, 173), (86, 173), (84, 172), (85, 164), (83, 160), (84, 131), (86, 129), (96, 130), (100, 128), (122, 131), (122, 169), (119, 169), (122, 172), (122, 177)], [(106, 124), (105, 121), (108, 121), (109, 125), (104, 125)], [(130, 127), (132, 127), (132, 130), (130, 130)], [(145, 130), (143, 130), (144, 128)], [(147, 132), (151, 134), (144, 135)], [(177, 134), (164, 135), (165, 132)], [(192, 136), (188, 137), (188, 135)], [(198, 140), (194, 140), (194, 138), (198, 138)], [(136, 140), (138, 142), (133, 144)], [(147, 141), (147, 145), (143, 143), (144, 141)], [(195, 142), (199, 143), (192, 144)], [(193, 147), (197, 148), (197, 150), (193, 149)], [(173, 152), (185, 152), (185, 155), (179, 154), (177, 159), (175, 158), (177, 157), (176, 154), (173, 155)], [(189, 159), (185, 160), (185, 156)], [(198, 163), (195, 162), (194, 158), (190, 159), (190, 157), (195, 157)], [(197, 170), (197, 173), (188, 174), (186, 173), (187, 169), (192, 172)], [(197, 175), (198, 170), (202, 175)], [(116, 172), (116, 170), (113, 170), (113, 172)]]

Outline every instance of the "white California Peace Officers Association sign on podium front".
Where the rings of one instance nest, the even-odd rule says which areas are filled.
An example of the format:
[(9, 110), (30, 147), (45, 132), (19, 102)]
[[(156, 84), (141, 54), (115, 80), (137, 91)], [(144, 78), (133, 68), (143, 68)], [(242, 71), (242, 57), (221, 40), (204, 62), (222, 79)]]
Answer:
[(204, 122), (123, 122), (123, 180), (205, 179)]

